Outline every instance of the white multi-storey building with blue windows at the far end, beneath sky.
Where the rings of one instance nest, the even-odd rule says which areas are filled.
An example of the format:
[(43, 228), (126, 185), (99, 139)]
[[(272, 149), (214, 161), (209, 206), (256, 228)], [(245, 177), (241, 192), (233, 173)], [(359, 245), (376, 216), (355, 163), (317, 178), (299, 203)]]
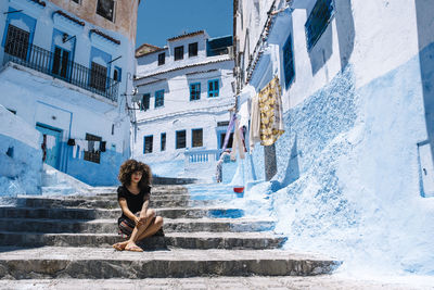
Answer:
[[(212, 39), (203, 30), (138, 49), (133, 157), (157, 175), (214, 176), (234, 105), (231, 49), (231, 36)], [(169, 163), (184, 161), (184, 171), (170, 172), (179, 166)]]

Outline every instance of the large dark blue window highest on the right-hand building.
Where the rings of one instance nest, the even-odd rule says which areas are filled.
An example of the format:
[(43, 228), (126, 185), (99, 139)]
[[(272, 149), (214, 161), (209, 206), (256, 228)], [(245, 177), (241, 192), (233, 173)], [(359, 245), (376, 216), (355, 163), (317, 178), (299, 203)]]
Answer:
[(305, 24), (308, 50), (317, 43), (333, 16), (333, 0), (317, 0)]

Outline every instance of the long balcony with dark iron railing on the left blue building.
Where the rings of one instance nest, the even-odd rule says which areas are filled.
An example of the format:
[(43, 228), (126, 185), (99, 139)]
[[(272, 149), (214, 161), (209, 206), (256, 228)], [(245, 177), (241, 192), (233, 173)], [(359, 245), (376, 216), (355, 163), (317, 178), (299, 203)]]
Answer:
[(106, 67), (92, 64), (90, 70), (69, 61), (66, 51), (51, 52), (27, 41), (9, 41), (4, 47), (3, 65), (8, 62), (27, 66), (117, 102), (119, 81), (106, 76)]

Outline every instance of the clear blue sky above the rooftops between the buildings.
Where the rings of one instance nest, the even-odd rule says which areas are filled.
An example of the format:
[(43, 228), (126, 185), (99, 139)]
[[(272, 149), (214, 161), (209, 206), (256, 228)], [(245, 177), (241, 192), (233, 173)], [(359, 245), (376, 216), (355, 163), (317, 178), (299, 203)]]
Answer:
[(136, 47), (164, 47), (167, 38), (206, 30), (209, 37), (232, 35), (232, 0), (141, 0)]

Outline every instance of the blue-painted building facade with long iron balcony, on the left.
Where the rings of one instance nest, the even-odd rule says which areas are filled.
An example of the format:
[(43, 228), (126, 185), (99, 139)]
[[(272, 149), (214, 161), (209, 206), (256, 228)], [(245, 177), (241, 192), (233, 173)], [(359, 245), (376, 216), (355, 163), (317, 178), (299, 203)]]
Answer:
[(0, 4), (0, 103), (42, 134), (46, 163), (93, 186), (117, 184), (130, 156), (138, 5)]

